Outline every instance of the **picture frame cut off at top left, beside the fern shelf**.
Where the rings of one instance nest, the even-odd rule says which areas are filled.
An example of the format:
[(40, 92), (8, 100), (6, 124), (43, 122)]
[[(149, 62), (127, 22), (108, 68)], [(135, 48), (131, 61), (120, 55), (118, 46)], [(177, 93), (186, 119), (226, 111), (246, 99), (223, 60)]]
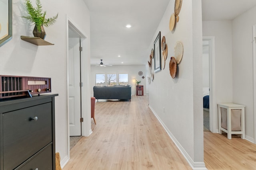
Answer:
[(0, 47), (12, 38), (12, 0), (0, 0)]

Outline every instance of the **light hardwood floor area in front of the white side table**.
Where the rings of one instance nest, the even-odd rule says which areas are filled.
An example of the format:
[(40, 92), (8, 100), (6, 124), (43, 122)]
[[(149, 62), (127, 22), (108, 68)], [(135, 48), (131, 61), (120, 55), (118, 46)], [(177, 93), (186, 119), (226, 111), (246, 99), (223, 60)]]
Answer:
[(208, 170), (256, 170), (256, 145), (232, 135), (204, 132), (204, 163)]

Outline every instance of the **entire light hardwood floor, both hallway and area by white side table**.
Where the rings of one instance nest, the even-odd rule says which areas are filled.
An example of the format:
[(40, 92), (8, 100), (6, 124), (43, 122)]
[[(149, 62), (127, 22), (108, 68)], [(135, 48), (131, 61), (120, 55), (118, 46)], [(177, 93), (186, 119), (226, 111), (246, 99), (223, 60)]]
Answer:
[[(147, 96), (96, 103), (93, 133), (70, 151), (62, 170), (192, 170), (148, 107)], [(256, 145), (204, 132), (208, 170), (256, 169)]]

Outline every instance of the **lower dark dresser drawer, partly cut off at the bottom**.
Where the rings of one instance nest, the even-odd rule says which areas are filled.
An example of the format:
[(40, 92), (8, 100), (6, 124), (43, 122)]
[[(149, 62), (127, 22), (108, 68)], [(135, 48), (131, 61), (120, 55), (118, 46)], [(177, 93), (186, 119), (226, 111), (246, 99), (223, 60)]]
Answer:
[(49, 145), (14, 170), (53, 170), (52, 165), (52, 145)]

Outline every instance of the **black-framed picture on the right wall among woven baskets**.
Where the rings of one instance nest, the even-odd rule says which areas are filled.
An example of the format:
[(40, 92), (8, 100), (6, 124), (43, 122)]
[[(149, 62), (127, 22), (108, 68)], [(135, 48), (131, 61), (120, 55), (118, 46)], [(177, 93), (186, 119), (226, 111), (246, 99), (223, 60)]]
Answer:
[(156, 39), (154, 41), (154, 66), (155, 66), (155, 72), (158, 72), (161, 70), (161, 33), (159, 31), (158, 35), (156, 36)]

